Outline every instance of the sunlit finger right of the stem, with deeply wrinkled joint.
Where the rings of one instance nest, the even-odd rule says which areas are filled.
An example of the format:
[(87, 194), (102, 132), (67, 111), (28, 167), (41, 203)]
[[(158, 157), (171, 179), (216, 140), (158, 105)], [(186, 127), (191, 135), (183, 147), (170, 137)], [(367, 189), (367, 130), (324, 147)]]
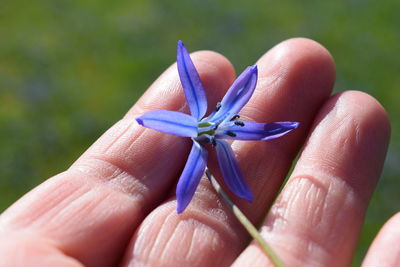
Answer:
[[(361, 92), (333, 96), (319, 113), (262, 233), (288, 266), (348, 266), (380, 176), (390, 127)], [(256, 245), (236, 266), (265, 265)]]

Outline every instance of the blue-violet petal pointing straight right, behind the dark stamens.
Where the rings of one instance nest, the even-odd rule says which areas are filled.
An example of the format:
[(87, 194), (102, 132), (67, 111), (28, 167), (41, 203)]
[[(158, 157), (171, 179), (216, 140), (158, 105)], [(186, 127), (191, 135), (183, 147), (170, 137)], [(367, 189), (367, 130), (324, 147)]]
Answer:
[(222, 132), (216, 137), (235, 140), (270, 140), (281, 137), (299, 126), (298, 122), (290, 121), (272, 123), (243, 121), (243, 123), (244, 126), (233, 124), (227, 128), (233, 135)]

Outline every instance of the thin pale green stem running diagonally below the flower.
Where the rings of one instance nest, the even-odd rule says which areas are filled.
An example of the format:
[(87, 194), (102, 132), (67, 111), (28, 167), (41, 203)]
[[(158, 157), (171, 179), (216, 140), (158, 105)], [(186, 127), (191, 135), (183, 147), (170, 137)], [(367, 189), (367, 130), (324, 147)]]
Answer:
[(264, 253), (268, 256), (271, 262), (276, 267), (284, 267), (285, 264), (278, 257), (278, 255), (272, 250), (272, 248), (267, 244), (265, 239), (260, 235), (257, 228), (247, 219), (247, 217), (243, 214), (243, 212), (233, 203), (233, 201), (229, 198), (229, 196), (225, 193), (225, 191), (221, 188), (215, 177), (211, 174), (209, 169), (206, 169), (207, 178), (210, 180), (212, 186), (215, 191), (218, 192), (228, 204), (228, 206), (232, 209), (233, 214), (240, 221), (240, 223), (246, 228), (247, 232), (254, 238), (254, 240), (260, 245), (260, 248), (264, 251)]

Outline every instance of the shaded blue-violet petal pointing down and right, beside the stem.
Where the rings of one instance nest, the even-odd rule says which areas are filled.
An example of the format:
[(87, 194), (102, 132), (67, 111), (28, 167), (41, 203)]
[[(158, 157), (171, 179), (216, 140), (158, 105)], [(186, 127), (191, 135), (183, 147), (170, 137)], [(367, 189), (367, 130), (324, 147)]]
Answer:
[(237, 196), (253, 202), (253, 193), (243, 178), (231, 146), (223, 140), (216, 140), (216, 143), (219, 168), (225, 183)]

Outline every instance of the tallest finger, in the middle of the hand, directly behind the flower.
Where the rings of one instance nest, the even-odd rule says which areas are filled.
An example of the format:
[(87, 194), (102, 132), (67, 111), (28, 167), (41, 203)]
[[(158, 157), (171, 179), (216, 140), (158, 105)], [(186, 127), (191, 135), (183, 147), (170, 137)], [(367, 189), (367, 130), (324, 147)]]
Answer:
[[(334, 80), (331, 56), (307, 39), (277, 45), (257, 65), (260, 78), (256, 92), (240, 114), (250, 121), (293, 120), (302, 126), (282, 141), (234, 142), (240, 167), (255, 196), (254, 204), (240, 204), (253, 221), (260, 220), (272, 201)], [(213, 161), (216, 159), (209, 159)], [(161, 260), (166, 265), (227, 265), (248, 242), (242, 226), (206, 179), (184, 213), (176, 215), (175, 205), (171, 199), (146, 218), (131, 242), (125, 264), (154, 265)]]

